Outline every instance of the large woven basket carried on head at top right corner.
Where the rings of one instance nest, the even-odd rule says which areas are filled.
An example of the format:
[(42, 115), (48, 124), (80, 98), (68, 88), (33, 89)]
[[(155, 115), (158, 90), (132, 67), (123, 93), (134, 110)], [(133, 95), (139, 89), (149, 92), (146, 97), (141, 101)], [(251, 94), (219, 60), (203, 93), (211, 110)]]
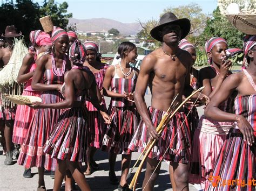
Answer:
[(245, 33), (256, 35), (256, 15), (226, 15), (227, 19), (234, 25), (237, 30)]

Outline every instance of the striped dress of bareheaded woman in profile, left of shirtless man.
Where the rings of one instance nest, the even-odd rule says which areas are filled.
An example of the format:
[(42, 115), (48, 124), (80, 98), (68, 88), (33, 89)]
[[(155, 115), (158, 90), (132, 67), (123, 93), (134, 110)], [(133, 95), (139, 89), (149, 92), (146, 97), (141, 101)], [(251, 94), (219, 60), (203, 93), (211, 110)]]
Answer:
[[(115, 75), (111, 81), (111, 91), (118, 94), (133, 93), (137, 80), (134, 69), (133, 77), (124, 79), (117, 75), (116, 66), (114, 67)], [(107, 112), (112, 119), (112, 123), (105, 126), (102, 150), (116, 154), (129, 154), (128, 146), (140, 121), (136, 105), (125, 98), (112, 97)]]

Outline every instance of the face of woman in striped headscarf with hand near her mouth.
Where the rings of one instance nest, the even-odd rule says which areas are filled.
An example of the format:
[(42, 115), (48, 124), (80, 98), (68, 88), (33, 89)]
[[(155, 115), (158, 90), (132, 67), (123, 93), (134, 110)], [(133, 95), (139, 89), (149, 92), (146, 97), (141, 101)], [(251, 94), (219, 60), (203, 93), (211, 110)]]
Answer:
[(210, 58), (212, 58), (212, 61), (216, 65), (220, 66), (223, 60), (225, 59), (226, 49), (227, 49), (227, 44), (224, 42), (220, 42), (215, 44), (211, 52), (208, 52), (207, 54)]

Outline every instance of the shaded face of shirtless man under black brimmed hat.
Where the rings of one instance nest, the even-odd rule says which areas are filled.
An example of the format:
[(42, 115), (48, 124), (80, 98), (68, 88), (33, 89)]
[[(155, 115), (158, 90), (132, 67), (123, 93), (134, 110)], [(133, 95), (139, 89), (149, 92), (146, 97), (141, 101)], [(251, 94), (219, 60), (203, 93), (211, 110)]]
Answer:
[(166, 25), (161, 31), (163, 41), (165, 43), (178, 43), (181, 37), (181, 29), (179, 25)]

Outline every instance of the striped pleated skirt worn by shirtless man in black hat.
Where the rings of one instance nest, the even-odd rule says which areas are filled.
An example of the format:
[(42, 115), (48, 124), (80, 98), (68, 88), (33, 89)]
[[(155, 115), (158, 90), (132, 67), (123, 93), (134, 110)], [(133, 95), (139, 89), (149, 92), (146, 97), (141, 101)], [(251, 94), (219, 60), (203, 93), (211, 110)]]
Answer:
[[(150, 107), (149, 114), (154, 126), (157, 126), (165, 112)], [(184, 164), (190, 161), (190, 129), (185, 117), (184, 112), (178, 112), (172, 118), (169, 124), (167, 124), (165, 130), (161, 133), (161, 138), (150, 152), (149, 158), (156, 160), (165, 159)], [(183, 122), (184, 124), (181, 125)], [(147, 142), (149, 142), (147, 128), (145, 123), (141, 121), (136, 133), (132, 138), (129, 149), (131, 151), (143, 152)], [(165, 151), (167, 152), (164, 155)]]

